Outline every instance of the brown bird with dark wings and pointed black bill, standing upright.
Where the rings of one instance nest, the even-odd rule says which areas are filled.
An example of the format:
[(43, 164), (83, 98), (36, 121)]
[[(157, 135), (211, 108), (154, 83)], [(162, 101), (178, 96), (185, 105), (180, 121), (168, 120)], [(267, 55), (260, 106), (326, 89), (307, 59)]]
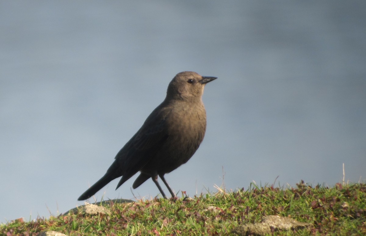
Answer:
[(122, 176), (117, 190), (137, 172), (140, 175), (132, 188), (151, 178), (163, 198), (167, 198), (158, 183), (159, 176), (172, 198), (176, 198), (164, 175), (185, 164), (201, 144), (206, 132), (202, 94), (205, 85), (214, 79), (217, 77), (201, 76), (193, 71), (176, 74), (168, 85), (164, 101), (117, 153), (105, 175), (78, 201), (90, 198), (110, 181)]

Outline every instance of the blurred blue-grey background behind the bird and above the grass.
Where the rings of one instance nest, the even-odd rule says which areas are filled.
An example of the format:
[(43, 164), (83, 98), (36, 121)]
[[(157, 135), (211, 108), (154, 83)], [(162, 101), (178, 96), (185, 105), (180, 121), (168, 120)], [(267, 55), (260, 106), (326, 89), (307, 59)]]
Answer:
[[(363, 0), (0, 1), (0, 222), (84, 204), (76, 199), (186, 70), (218, 79), (203, 95), (201, 147), (165, 175), (178, 196), (253, 182), (334, 186), (343, 163), (345, 181), (365, 183), (365, 9)], [(159, 194), (151, 180), (132, 190), (135, 178), (96, 199)]]

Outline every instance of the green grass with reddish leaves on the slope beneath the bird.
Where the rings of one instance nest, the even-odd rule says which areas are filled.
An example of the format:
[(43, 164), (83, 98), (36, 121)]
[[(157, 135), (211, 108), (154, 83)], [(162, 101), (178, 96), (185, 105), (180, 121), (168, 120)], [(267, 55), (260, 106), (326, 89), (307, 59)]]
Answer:
[[(0, 235), (37, 235), (58, 231), (66, 235), (228, 235), (240, 225), (278, 215), (313, 225), (296, 235), (366, 235), (366, 184), (328, 188), (303, 182), (296, 188), (259, 187), (219, 191), (176, 201), (152, 199), (106, 206), (111, 214), (78, 211), (25, 222), (0, 225)], [(293, 235), (294, 231), (275, 232)]]

